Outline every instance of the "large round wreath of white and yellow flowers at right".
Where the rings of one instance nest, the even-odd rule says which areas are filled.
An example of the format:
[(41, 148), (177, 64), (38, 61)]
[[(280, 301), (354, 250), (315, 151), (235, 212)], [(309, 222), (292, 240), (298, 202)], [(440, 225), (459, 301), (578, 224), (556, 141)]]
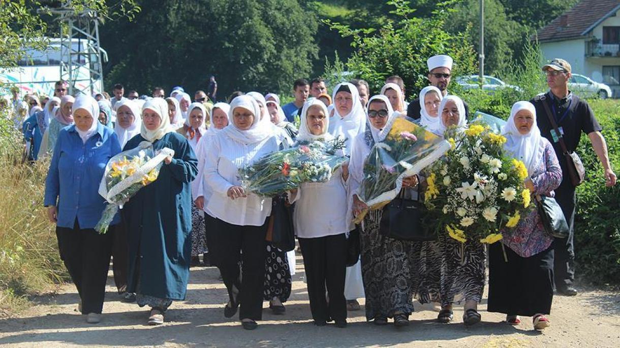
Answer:
[(451, 150), (428, 168), (426, 206), (438, 228), (462, 243), (501, 240), (499, 231), (515, 227), (530, 206), (525, 164), (505, 154), (506, 138), (491, 129), (448, 129)]

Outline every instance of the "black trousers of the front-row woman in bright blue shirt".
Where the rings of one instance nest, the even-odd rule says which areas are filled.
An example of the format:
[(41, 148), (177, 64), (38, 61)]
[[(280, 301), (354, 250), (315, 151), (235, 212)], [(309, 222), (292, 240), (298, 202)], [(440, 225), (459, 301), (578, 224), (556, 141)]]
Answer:
[(58, 250), (82, 300), (82, 314), (101, 313), (105, 281), (110, 268), (112, 233), (99, 234), (93, 228), (56, 227)]

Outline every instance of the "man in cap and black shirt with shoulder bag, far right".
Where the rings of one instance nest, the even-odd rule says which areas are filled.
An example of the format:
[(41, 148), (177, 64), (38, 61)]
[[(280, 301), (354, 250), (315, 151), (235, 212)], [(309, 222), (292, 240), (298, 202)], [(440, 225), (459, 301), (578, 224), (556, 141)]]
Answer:
[[(553, 244), (554, 274), (556, 290), (560, 294), (574, 296), (577, 290), (572, 285), (575, 269), (573, 266), (575, 253), (573, 248), (573, 220), (575, 215), (575, 186), (567, 172), (567, 160), (559, 143), (559, 136), (553, 129), (549, 117), (556, 120), (560, 137), (564, 139), (569, 152), (577, 150), (582, 132), (588, 134), (592, 147), (601, 161), (605, 171), (607, 186), (616, 185), (616, 175), (611, 169), (607, 153), (607, 145), (601, 134), (601, 126), (596, 121), (594, 112), (585, 100), (572, 94), (569, 90), (569, 79), (572, 76), (570, 64), (564, 59), (553, 59), (542, 67), (547, 75), (549, 92), (539, 95), (531, 103), (536, 107), (536, 123), (542, 136), (546, 137), (556, 150), (557, 159), (562, 167), (562, 183), (556, 189), (556, 200), (569, 223), (569, 237), (556, 238)], [(542, 103), (549, 105), (552, 115), (548, 115)]]

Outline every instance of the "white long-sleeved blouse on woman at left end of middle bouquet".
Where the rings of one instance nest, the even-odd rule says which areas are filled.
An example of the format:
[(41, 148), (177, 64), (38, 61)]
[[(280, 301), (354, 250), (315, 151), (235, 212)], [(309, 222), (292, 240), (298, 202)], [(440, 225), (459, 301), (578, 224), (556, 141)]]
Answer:
[(271, 214), (272, 199), (246, 193), (246, 198), (229, 198), (232, 186), (241, 185), (238, 170), (278, 150), (273, 136), (254, 144), (242, 144), (220, 132), (212, 137), (205, 157), (204, 176), (213, 194), (205, 202), (205, 212), (233, 225), (262, 226)]

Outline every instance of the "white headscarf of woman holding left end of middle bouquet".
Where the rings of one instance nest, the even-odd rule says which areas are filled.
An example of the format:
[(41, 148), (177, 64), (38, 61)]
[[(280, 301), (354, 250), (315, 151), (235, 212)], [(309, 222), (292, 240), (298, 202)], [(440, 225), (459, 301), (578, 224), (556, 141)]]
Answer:
[[(244, 108), (249, 110), (254, 115), (254, 121), (249, 129), (241, 130), (234, 124), (234, 110), (236, 108)], [(222, 129), (222, 132), (226, 136), (241, 142), (242, 144), (254, 144), (265, 140), (272, 135), (272, 128), (268, 127), (268, 124), (260, 120), (260, 107), (259, 103), (250, 95), (239, 95), (231, 102), (231, 109), (228, 113), (228, 120), (231, 122)], [(269, 122), (271, 123), (271, 122)]]

